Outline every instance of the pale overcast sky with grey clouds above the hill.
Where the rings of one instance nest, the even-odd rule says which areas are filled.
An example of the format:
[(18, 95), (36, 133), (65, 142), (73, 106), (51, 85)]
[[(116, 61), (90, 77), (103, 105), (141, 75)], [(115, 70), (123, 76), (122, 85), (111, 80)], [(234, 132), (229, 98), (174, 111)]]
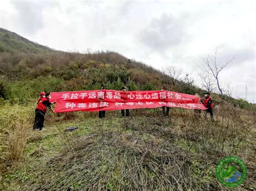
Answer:
[(197, 75), (199, 55), (235, 60), (220, 74), (256, 102), (255, 1), (1, 1), (0, 27), (62, 51), (109, 50)]

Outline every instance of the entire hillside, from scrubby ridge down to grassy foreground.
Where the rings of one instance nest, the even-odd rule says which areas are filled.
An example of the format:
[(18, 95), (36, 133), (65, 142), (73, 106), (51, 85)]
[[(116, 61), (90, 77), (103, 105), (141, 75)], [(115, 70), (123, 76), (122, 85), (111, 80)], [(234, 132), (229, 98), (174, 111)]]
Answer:
[[(245, 161), (255, 187), (255, 104), (213, 94), (215, 121), (204, 113), (171, 108), (52, 114), (46, 131), (32, 131), (41, 91), (107, 89), (180, 93), (204, 90), (116, 52), (54, 51), (0, 29), (0, 189), (216, 190), (218, 161)], [(65, 132), (70, 126), (78, 130)]]

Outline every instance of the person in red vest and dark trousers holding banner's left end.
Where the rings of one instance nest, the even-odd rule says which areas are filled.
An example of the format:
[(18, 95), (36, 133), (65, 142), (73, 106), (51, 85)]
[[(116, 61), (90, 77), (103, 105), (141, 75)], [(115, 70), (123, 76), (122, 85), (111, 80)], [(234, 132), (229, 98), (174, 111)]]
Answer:
[[(44, 116), (49, 108), (52, 112), (54, 112), (51, 109), (51, 102), (49, 101), (50, 93), (45, 94), (45, 97), (43, 97), (41, 100), (39, 100), (36, 110), (35, 110), (35, 121), (33, 124), (33, 130), (44, 130)], [(53, 102), (55, 103), (55, 102)]]

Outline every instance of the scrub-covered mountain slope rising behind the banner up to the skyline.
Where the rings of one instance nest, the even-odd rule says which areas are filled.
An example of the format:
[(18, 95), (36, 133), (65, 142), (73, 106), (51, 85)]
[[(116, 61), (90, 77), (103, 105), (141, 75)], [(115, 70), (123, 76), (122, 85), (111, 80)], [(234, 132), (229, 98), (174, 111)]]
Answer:
[[(129, 90), (156, 90), (165, 86), (185, 94), (203, 96), (204, 93), (183, 81), (174, 86), (170, 76), (117, 52), (54, 51), (0, 28), (0, 97), (24, 102), (42, 90), (90, 90), (98, 89), (101, 83), (107, 89), (126, 86)], [(215, 103), (221, 102), (219, 95), (214, 94), (213, 98)], [(244, 100), (226, 98), (235, 106), (251, 108), (252, 104)]]

